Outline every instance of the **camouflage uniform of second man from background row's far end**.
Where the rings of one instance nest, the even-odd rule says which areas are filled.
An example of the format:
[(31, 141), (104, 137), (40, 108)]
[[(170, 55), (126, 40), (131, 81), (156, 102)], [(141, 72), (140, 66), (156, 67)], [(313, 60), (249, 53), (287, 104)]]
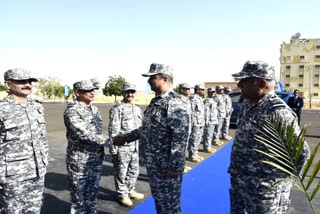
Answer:
[(219, 142), (219, 136), (221, 134), (223, 120), (226, 117), (226, 102), (223, 94), (216, 94), (214, 99), (217, 102), (217, 110), (218, 110), (218, 123), (214, 126), (214, 133), (212, 137), (213, 143)]

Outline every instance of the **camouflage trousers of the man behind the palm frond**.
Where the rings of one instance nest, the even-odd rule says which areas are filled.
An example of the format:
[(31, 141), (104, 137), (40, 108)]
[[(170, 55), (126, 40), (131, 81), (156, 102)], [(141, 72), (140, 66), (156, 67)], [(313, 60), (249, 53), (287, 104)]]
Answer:
[(231, 175), (232, 214), (285, 214), (290, 205), (292, 182), (283, 181), (269, 189), (276, 182), (273, 178), (240, 177)]

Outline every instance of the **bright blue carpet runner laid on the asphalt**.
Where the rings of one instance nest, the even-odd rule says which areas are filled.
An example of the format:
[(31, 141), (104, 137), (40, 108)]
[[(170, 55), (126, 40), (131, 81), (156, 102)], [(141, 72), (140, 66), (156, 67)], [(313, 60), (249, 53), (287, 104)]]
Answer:
[[(232, 142), (194, 167), (183, 176), (181, 206), (183, 214), (230, 213), (230, 163)], [(133, 208), (130, 214), (156, 213), (149, 197)]]

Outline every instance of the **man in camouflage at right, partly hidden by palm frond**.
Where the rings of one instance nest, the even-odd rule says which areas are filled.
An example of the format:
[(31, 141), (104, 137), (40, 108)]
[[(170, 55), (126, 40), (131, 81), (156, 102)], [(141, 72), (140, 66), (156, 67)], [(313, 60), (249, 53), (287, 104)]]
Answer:
[[(268, 148), (257, 142), (255, 135), (266, 118), (278, 115), (287, 124), (294, 122), (297, 137), (300, 129), (296, 116), (274, 92), (273, 67), (261, 61), (248, 61), (239, 73), (232, 76), (240, 79), (238, 87), (245, 100), (238, 116), (228, 170), (231, 176), (231, 213), (286, 213), (292, 183), (285, 180), (276, 188), (269, 189), (275, 182), (289, 176), (261, 162), (272, 160), (256, 151), (268, 152)], [(305, 143), (299, 163), (301, 168), (308, 156), (309, 147)]]

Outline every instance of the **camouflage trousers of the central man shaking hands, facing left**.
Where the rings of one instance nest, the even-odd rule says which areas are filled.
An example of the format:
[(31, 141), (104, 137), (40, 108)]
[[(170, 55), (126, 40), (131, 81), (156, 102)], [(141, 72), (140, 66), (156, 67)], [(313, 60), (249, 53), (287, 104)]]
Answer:
[(166, 170), (154, 166), (147, 166), (147, 172), (157, 214), (180, 214), (182, 175), (167, 177)]

